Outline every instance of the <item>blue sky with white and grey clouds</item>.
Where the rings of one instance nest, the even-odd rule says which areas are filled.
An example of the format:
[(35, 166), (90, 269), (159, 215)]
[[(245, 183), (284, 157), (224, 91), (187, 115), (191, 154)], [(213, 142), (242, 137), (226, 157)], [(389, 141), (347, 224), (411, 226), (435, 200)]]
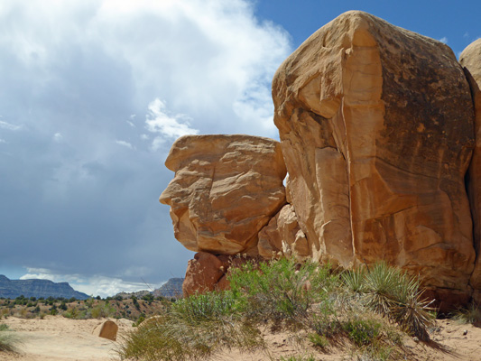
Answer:
[(171, 144), (278, 139), (275, 70), (348, 10), (457, 56), (481, 37), (477, 0), (0, 0), (0, 274), (103, 297), (183, 277)]

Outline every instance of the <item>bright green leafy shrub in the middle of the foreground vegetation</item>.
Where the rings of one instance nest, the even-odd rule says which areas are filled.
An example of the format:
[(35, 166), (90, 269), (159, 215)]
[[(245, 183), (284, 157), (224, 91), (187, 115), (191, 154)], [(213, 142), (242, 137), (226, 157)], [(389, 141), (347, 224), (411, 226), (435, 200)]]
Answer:
[(255, 321), (270, 320), (300, 327), (312, 304), (324, 300), (337, 284), (330, 266), (298, 265), (282, 258), (258, 265), (247, 263), (228, 278), (238, 310)]

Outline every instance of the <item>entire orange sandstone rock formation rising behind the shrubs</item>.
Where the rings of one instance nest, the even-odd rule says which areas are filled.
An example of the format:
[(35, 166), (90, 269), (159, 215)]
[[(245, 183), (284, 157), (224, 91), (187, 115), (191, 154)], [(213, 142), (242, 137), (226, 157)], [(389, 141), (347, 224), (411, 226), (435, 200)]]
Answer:
[(198, 252), (184, 293), (226, 287), (227, 256), (295, 255), (344, 268), (384, 260), (421, 275), (441, 308), (481, 302), (480, 86), (481, 41), (459, 63), (446, 44), (371, 14), (324, 25), (274, 76), (280, 143), (172, 145), (160, 200)]

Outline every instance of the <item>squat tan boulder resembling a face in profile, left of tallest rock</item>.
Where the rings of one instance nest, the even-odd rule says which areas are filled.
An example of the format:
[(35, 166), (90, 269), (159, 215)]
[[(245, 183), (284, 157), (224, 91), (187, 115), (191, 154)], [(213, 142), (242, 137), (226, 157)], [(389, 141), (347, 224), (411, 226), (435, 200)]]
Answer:
[(257, 234), (285, 204), (280, 143), (250, 135), (186, 135), (165, 162), (175, 178), (160, 201), (186, 248), (257, 254)]

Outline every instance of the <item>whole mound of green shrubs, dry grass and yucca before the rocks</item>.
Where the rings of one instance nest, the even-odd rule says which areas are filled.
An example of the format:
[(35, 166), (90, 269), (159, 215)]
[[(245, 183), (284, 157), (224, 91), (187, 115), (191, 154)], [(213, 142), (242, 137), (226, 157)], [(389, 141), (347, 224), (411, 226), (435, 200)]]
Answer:
[(252, 352), (265, 349), (262, 329), (268, 328), (318, 356), (341, 347), (359, 360), (410, 359), (403, 339), (428, 341), (435, 316), (419, 282), (383, 263), (341, 273), (281, 259), (245, 264), (229, 281), (230, 291), (171, 303), (161, 317), (147, 319), (126, 338), (121, 358), (198, 360), (226, 349)]

